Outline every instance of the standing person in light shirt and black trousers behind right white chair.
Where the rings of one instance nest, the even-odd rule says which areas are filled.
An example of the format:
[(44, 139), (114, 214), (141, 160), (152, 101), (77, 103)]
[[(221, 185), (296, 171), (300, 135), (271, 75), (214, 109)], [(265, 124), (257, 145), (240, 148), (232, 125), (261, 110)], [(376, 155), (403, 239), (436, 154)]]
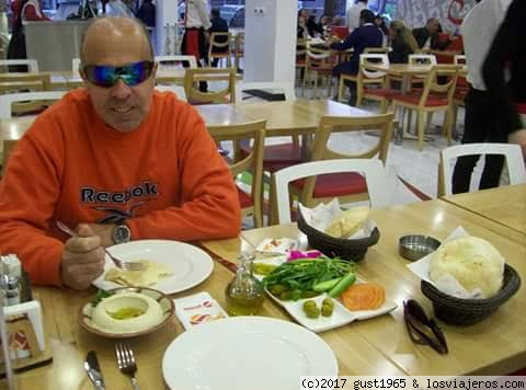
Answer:
[[(462, 144), (505, 142), (507, 133), (499, 129), (504, 118), (499, 113), (493, 93), (482, 76), (482, 66), (490, 50), (491, 43), (499, 31), (511, 0), (479, 0), (466, 15), (460, 26), (464, 50), (468, 64), (469, 91), (466, 96), (466, 115), (464, 119)], [(500, 70), (502, 73), (502, 69)], [(499, 70), (496, 70), (499, 72)], [(505, 89), (504, 80), (502, 89)], [(465, 156), (457, 159), (451, 177), (454, 194), (469, 192), (471, 173), (479, 156)], [(485, 156), (484, 169), (479, 188), (499, 186), (504, 159), (502, 156)]]

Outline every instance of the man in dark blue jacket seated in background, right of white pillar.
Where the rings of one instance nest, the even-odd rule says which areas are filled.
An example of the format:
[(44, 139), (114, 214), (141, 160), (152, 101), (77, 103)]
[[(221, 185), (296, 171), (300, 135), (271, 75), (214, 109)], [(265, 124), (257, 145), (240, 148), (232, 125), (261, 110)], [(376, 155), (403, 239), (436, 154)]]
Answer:
[[(366, 47), (381, 47), (384, 35), (374, 24), (375, 14), (373, 11), (363, 10), (361, 15), (361, 26), (355, 28), (343, 42), (332, 43), (330, 47), (334, 50), (347, 50), (354, 48), (351, 59), (339, 64), (333, 69), (333, 76), (340, 78), (340, 74), (356, 74), (359, 67), (359, 55)], [(348, 82), (351, 99), (348, 104), (356, 105), (356, 84)]]

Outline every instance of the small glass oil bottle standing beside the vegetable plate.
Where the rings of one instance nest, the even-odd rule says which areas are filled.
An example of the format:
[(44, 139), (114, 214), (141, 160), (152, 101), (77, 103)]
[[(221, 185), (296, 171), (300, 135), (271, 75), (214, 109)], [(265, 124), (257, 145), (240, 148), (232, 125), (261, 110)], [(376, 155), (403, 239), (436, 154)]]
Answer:
[(265, 299), (263, 285), (252, 275), (253, 255), (242, 253), (236, 277), (227, 286), (227, 312), (229, 316), (254, 316)]

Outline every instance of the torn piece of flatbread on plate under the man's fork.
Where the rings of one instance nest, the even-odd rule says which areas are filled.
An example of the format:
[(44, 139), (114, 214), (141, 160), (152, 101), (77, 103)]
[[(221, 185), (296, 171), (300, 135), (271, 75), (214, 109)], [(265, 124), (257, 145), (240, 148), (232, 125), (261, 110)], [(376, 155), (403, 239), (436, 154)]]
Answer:
[(167, 264), (150, 260), (139, 260), (138, 262), (145, 265), (145, 269), (129, 271), (114, 267), (106, 271), (104, 280), (123, 286), (149, 287), (156, 285), (159, 279), (173, 275), (172, 269)]

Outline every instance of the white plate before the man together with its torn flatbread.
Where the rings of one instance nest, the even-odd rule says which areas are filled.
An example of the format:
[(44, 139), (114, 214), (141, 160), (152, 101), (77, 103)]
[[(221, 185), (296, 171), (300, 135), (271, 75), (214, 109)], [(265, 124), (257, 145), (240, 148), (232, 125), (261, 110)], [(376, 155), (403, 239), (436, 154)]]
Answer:
[(145, 268), (117, 268), (106, 256), (104, 273), (93, 282), (108, 290), (117, 287), (150, 287), (175, 294), (204, 282), (214, 269), (211, 257), (203, 250), (179, 241), (137, 240), (107, 249), (124, 261), (141, 262)]

